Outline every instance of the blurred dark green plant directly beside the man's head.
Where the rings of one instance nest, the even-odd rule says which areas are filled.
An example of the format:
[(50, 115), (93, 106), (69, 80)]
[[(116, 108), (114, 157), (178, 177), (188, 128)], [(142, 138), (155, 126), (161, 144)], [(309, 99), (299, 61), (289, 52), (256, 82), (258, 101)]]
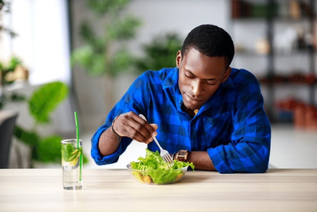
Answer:
[(177, 33), (155, 36), (150, 44), (143, 45), (145, 57), (136, 59), (135, 66), (139, 72), (175, 67), (176, 53), (181, 48), (182, 39)]

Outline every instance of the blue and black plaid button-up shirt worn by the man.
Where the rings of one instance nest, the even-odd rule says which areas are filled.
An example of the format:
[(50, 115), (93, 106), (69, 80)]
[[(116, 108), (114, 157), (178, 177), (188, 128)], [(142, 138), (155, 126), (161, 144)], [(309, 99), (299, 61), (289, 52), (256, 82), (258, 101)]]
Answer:
[[(146, 71), (130, 86), (91, 139), (91, 156), (98, 165), (118, 161), (132, 139), (123, 137), (118, 149), (102, 156), (101, 133), (119, 114), (133, 111), (158, 124), (157, 139), (169, 152), (179, 149), (207, 151), (220, 173), (263, 173), (268, 169), (271, 127), (263, 109), (256, 77), (247, 70), (232, 69), (229, 78), (191, 116), (182, 111), (178, 68)], [(155, 142), (148, 148), (159, 150)]]

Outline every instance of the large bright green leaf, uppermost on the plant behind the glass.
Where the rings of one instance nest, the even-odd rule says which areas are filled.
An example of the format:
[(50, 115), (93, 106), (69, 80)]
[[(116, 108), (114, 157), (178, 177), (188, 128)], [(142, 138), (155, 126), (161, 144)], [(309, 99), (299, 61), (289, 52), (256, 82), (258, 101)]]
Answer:
[(48, 123), (49, 113), (68, 94), (68, 87), (62, 82), (50, 82), (36, 90), (29, 100), (29, 110), (37, 122)]

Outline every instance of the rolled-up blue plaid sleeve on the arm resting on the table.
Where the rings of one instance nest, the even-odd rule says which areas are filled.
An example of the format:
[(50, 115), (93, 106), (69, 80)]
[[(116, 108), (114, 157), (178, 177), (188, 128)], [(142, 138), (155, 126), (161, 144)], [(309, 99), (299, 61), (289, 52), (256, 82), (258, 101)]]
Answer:
[(263, 109), (263, 97), (255, 77), (241, 83), (236, 95), (234, 131), (228, 144), (208, 148), (220, 173), (263, 173), (268, 169), (271, 127)]

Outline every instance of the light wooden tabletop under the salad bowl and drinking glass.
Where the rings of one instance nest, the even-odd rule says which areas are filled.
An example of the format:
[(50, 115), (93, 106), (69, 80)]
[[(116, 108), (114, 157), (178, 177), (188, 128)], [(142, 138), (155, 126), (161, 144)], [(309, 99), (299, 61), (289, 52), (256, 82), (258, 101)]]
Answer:
[(169, 185), (137, 183), (126, 169), (83, 169), (77, 191), (62, 188), (61, 174), (0, 169), (0, 211), (317, 211), (317, 169), (188, 171)]

